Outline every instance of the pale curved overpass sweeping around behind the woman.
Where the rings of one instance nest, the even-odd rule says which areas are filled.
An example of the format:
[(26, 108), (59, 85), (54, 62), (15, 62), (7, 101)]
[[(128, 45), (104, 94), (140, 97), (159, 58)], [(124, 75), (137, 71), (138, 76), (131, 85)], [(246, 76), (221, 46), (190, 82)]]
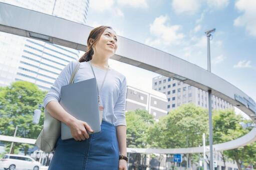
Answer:
[[(86, 38), (93, 27), (79, 24), (41, 12), (0, 2), (0, 31), (25, 37), (40, 35), (45, 41), (86, 50)], [(33, 35), (34, 34), (34, 35)], [(256, 122), (256, 103), (239, 88), (219, 76), (186, 60), (148, 45), (118, 36), (119, 48), (111, 57), (124, 63), (144, 68), (159, 74), (182, 80), (184, 83), (212, 90), (212, 94), (235, 105)], [(225, 143), (213, 145), (215, 150), (225, 150), (246, 145), (256, 140), (256, 128), (248, 134)], [(128, 148), (135, 149), (135, 148)], [(140, 152), (138, 148), (136, 148)], [(189, 153), (201, 152), (201, 147), (178, 149), (153, 149), (148, 152)]]

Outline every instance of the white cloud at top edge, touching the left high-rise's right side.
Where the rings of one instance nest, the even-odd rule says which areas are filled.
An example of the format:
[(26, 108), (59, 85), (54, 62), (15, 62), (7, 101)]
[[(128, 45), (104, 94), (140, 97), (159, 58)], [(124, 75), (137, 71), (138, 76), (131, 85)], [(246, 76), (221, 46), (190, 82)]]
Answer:
[(90, 8), (103, 12), (113, 8), (114, 0), (90, 0)]

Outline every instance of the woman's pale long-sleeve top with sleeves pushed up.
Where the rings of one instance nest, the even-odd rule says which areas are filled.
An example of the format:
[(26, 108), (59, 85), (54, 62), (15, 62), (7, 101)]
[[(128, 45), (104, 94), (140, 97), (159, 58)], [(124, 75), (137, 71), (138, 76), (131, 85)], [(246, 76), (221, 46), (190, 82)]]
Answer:
[[(63, 68), (60, 75), (57, 77), (54, 84), (51, 86), (50, 90), (44, 98), (45, 108), (49, 101), (60, 101), (61, 87), (63, 85), (69, 84), (70, 77), (76, 67), (77, 62), (77, 60), (72, 60)], [(94, 65), (92, 66), (100, 90), (106, 70)], [(90, 63), (81, 62), (77, 74), (74, 78), (74, 83), (93, 77), (94, 74), (92, 72)], [(100, 91), (100, 105), (103, 105), (104, 107), (102, 120), (112, 123), (115, 126), (126, 125), (126, 92), (126, 77), (122, 73), (110, 67), (103, 87)]]

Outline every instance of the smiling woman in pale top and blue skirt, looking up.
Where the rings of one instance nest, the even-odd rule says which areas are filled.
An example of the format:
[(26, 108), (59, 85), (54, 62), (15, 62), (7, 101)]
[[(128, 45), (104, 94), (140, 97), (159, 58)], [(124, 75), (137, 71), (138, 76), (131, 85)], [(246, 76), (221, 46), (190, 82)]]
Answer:
[(127, 169), (126, 77), (108, 64), (109, 57), (116, 52), (117, 42), (116, 33), (110, 26), (99, 26), (91, 30), (87, 39), (88, 50), (79, 59), (80, 66), (74, 79), (75, 83), (93, 78), (93, 67), (100, 89), (100, 105), (104, 108), (99, 133), (88, 134), (88, 130), (92, 132), (88, 123), (75, 118), (59, 104), (61, 86), (69, 83), (78, 61), (71, 61), (61, 71), (45, 96), (45, 108), (53, 117), (67, 124), (74, 137), (58, 139), (49, 170)]

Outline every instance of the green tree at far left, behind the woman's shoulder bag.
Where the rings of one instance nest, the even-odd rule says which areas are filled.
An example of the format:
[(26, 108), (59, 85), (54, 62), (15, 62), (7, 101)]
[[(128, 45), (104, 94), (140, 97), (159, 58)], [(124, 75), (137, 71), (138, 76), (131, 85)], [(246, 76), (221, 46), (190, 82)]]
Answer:
[[(43, 128), (44, 112), (42, 108), (39, 124), (34, 124), (34, 110), (43, 102), (46, 93), (28, 81), (15, 81), (10, 86), (1, 87), (0, 134), (13, 136), (18, 125), (16, 136), (36, 139)], [(18, 150), (22, 148), (25, 154), (31, 147), (26, 143), (15, 143), (14, 146)], [(10, 144), (7, 144), (7, 149), (9, 147)]]

